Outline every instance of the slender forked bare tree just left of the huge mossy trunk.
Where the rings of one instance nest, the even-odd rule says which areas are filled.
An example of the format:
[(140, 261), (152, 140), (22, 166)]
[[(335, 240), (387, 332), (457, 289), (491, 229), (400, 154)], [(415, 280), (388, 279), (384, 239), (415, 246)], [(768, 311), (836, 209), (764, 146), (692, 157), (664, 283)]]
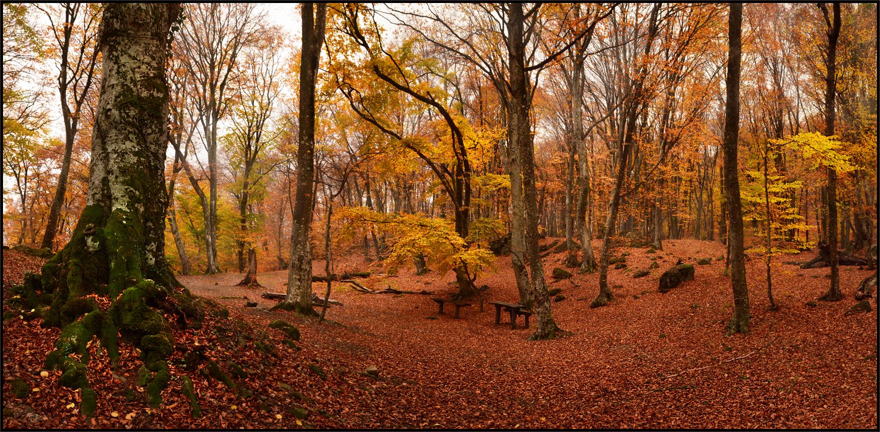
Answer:
[[(58, 175), (55, 198), (49, 210), (46, 231), (40, 247), (53, 249), (55, 233), (64, 195), (67, 193), (67, 179), (70, 175), (70, 157), (73, 143), (77, 138), (82, 110), (88, 101), (94, 77), (99, 73), (99, 49), (97, 47), (98, 26), (101, 6), (99, 4), (62, 4), (63, 22), (55, 24), (55, 11), (43, 9), (49, 18), (49, 30), (55, 36), (59, 48), (58, 92), (61, 96), (61, 112), (64, 121), (64, 160)], [(81, 18), (82, 22), (77, 22)]]

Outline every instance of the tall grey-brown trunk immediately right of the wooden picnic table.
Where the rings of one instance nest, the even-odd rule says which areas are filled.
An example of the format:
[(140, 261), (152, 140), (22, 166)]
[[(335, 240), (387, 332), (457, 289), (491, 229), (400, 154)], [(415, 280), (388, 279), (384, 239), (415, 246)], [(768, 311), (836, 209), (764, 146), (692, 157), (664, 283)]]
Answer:
[[(535, 189), (535, 164), (532, 149), (532, 128), (529, 124), (529, 89), (525, 71), (525, 45), (523, 40), (524, 14), (522, 4), (509, 4), (507, 30), (508, 59), (510, 61), (510, 106), (508, 107), (508, 142), (510, 150), (510, 194), (520, 194), (524, 204), (524, 216), (516, 223), (514, 231), (524, 233), (525, 260), (532, 278), (532, 309), (538, 325), (532, 340), (553, 339), (559, 327), (550, 309), (550, 296), (544, 280), (544, 266), (538, 252), (538, 204)], [(516, 235), (516, 232), (515, 234)]]

